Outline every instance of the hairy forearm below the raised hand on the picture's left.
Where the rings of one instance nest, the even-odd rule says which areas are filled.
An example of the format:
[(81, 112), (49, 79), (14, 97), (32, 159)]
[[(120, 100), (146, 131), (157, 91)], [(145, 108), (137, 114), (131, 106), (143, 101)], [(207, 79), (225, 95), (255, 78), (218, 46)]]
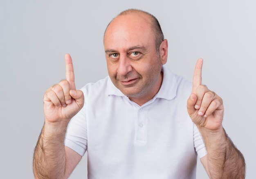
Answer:
[(65, 172), (64, 138), (67, 124), (45, 124), (34, 151), (36, 179), (63, 179)]

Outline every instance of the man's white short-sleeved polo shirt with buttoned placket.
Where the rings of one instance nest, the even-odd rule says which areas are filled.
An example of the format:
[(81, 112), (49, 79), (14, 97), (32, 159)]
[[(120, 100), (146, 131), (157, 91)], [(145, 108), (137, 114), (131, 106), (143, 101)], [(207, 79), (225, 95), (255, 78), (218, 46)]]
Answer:
[(162, 70), (159, 92), (142, 106), (109, 77), (81, 89), (85, 105), (70, 121), (65, 145), (88, 152), (88, 179), (195, 179), (197, 155), (207, 151), (186, 109), (192, 83)]

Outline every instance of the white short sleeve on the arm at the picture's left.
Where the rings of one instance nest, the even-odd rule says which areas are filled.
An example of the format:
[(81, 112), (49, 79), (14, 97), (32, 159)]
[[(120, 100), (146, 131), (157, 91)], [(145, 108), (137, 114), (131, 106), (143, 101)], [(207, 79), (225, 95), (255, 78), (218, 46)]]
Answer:
[(87, 121), (84, 107), (70, 120), (67, 126), (65, 146), (83, 156), (87, 150)]

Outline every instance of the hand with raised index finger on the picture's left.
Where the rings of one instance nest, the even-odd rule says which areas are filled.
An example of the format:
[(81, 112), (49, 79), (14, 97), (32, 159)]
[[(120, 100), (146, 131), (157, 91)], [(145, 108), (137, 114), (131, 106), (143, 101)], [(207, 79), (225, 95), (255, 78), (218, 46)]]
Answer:
[(65, 61), (66, 79), (47, 89), (43, 98), (46, 124), (68, 124), (84, 104), (83, 92), (76, 90), (74, 68), (69, 54), (65, 55)]

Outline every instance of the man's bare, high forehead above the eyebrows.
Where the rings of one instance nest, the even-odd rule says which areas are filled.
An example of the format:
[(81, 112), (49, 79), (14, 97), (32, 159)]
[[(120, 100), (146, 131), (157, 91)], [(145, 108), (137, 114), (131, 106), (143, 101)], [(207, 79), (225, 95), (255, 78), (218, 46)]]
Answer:
[(154, 35), (151, 20), (144, 14), (127, 14), (116, 17), (108, 26), (104, 46), (106, 49), (126, 49), (131, 46), (152, 46)]

